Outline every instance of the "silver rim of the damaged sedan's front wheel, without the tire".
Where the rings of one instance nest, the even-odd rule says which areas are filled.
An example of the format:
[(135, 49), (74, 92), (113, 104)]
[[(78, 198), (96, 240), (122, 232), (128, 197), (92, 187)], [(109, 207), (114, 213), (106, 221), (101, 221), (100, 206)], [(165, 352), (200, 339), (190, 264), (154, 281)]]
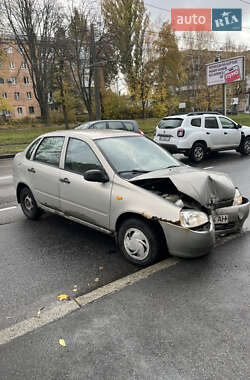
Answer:
[(124, 236), (124, 247), (127, 254), (137, 260), (144, 260), (149, 254), (149, 241), (138, 228), (129, 228)]

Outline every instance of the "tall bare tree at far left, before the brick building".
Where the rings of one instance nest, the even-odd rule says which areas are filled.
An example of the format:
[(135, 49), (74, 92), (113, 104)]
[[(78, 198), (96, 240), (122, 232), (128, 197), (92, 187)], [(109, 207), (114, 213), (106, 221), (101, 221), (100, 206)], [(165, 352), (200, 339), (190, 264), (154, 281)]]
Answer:
[(41, 116), (49, 123), (53, 38), (61, 24), (55, 0), (3, 0), (5, 16), (31, 76)]

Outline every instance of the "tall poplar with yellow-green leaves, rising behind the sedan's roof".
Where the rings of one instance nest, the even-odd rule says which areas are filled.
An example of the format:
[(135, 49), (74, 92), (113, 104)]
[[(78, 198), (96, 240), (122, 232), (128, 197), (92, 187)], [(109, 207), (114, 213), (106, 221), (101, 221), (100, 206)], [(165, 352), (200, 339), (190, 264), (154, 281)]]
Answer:
[(152, 85), (152, 64), (149, 52), (149, 15), (143, 0), (104, 0), (104, 23), (118, 52), (120, 70), (131, 96), (145, 104)]

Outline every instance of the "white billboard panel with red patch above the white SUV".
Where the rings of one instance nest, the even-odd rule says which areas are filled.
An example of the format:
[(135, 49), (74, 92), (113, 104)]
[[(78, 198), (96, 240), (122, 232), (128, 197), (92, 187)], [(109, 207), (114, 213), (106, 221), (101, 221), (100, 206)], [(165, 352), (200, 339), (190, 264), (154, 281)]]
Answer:
[(206, 65), (207, 86), (245, 79), (245, 57), (235, 57)]

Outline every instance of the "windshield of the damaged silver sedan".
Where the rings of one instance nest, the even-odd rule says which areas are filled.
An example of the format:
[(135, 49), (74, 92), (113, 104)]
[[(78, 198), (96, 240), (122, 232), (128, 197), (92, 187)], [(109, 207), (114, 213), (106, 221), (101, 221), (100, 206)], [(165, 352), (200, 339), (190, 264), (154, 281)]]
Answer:
[(163, 148), (142, 136), (126, 136), (96, 140), (112, 168), (122, 177), (181, 166)]

